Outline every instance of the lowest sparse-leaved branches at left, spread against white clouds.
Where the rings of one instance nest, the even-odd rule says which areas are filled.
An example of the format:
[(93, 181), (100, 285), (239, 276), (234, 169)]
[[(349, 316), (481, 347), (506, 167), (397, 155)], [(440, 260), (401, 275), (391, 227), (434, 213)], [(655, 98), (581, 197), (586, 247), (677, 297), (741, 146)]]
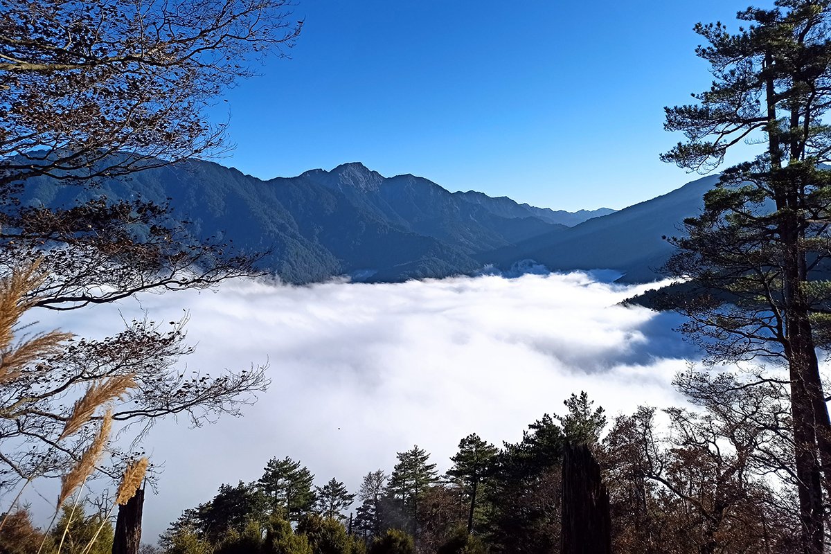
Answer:
[[(37, 282), (43, 273), (32, 270), (16, 279), (20, 275), (12, 274), (0, 287), (3, 313), (10, 303), (19, 306), (18, 315), (35, 306), (22, 295), (21, 285)], [(124, 331), (101, 340), (56, 332), (21, 339), (9, 332), (19, 329), (17, 319), (3, 318), (0, 493), (21, 480), (65, 473), (96, 434), (96, 420), (106, 406), (122, 422), (121, 432), (138, 426), (130, 447), (113, 452), (118, 464), (158, 419), (182, 415), (199, 426), (219, 414), (239, 414), (265, 389), (264, 367), (218, 368), (214, 376), (180, 369), (179, 358), (193, 351), (184, 342), (184, 323), (133, 320)]]

